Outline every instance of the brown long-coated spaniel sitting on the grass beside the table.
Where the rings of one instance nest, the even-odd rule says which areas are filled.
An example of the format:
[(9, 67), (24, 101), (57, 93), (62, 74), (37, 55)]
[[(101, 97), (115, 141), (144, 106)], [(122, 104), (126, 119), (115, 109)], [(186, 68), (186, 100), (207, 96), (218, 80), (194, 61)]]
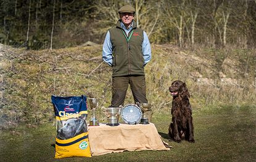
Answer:
[(188, 142), (194, 141), (194, 126), (192, 123), (192, 108), (189, 103), (189, 91), (186, 83), (176, 80), (169, 87), (173, 102), (171, 107), (171, 124), (169, 127), (169, 136), (172, 141)]

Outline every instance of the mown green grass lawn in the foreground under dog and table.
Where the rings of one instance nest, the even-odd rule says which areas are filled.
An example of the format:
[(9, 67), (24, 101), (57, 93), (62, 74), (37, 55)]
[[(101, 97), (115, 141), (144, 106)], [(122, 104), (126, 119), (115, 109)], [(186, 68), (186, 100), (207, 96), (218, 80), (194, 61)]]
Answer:
[(152, 122), (170, 151), (110, 153), (92, 158), (55, 160), (55, 126), (19, 128), (0, 132), (0, 161), (255, 161), (256, 107), (223, 106), (194, 110), (196, 143), (168, 141), (170, 112), (154, 114)]

